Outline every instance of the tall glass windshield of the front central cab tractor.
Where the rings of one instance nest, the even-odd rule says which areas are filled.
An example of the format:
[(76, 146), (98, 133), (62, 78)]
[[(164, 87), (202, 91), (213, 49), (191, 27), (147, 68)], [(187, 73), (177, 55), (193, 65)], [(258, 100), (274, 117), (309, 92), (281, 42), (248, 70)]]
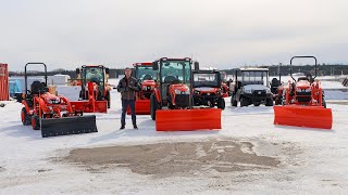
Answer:
[(162, 82), (190, 83), (190, 64), (188, 61), (165, 61), (161, 69)]

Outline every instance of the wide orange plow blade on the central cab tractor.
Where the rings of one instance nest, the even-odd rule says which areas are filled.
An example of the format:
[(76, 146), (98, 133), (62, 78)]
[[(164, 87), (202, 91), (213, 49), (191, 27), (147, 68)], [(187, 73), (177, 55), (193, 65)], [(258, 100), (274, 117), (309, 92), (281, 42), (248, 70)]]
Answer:
[(220, 108), (156, 110), (157, 131), (221, 129)]

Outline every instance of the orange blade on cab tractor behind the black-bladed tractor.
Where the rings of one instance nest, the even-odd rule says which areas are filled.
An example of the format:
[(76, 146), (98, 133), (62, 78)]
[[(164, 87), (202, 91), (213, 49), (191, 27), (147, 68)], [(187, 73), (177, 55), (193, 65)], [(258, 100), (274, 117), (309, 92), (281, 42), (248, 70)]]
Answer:
[(108, 101), (77, 101), (71, 102), (74, 110), (84, 113), (108, 113)]

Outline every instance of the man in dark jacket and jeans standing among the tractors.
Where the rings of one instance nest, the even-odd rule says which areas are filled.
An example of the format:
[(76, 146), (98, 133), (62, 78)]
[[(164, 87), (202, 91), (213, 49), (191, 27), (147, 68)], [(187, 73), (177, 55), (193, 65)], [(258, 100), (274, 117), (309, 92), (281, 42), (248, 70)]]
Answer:
[(136, 100), (136, 91), (139, 90), (138, 81), (136, 78), (132, 77), (132, 69), (126, 68), (124, 70), (125, 77), (123, 77), (119, 84), (117, 91), (121, 92), (121, 100), (122, 100), (122, 115), (121, 115), (121, 128), (124, 129), (126, 126), (126, 109), (130, 107), (132, 114), (132, 122), (133, 128), (138, 129), (137, 119), (135, 115), (135, 100)]

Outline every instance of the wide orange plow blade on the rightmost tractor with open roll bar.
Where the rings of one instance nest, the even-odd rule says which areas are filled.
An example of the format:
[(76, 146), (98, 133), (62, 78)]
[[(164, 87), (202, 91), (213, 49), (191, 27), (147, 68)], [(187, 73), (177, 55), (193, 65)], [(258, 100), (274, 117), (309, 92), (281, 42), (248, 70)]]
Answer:
[(274, 125), (332, 129), (331, 108), (321, 106), (274, 106)]

